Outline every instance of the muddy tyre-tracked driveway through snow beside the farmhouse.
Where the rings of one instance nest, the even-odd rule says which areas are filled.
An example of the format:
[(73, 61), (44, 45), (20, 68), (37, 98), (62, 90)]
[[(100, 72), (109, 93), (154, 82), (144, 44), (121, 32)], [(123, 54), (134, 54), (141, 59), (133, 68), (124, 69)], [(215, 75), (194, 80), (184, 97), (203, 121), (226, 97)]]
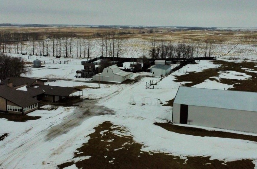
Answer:
[[(26, 159), (26, 156), (31, 151), (37, 148), (38, 144), (48, 142), (62, 134), (68, 133), (71, 129), (79, 126), (92, 116), (114, 114), (113, 110), (99, 105), (99, 103), (109, 100), (123, 90), (122, 86), (114, 85), (117, 86), (117, 89), (112, 93), (95, 100), (84, 99), (83, 102), (76, 104), (77, 108), (70, 115), (54, 121), (46, 128), (42, 128), (40, 131), (33, 133), (28, 139), (22, 140), (20, 145), (2, 155), (3, 158), (0, 159), (0, 169), (16, 168), (22, 160)], [(24, 132), (22, 134), (27, 133)], [(70, 137), (73, 137), (72, 134)]]

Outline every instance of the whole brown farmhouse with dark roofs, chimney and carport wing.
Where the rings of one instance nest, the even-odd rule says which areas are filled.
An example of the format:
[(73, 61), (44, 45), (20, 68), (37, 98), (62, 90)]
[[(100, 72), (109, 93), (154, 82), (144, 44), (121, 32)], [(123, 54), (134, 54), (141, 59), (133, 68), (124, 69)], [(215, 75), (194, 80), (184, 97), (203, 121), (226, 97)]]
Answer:
[(0, 111), (27, 114), (37, 109), (40, 100), (56, 102), (77, 91), (82, 90), (44, 85), (39, 79), (6, 78), (0, 83)]

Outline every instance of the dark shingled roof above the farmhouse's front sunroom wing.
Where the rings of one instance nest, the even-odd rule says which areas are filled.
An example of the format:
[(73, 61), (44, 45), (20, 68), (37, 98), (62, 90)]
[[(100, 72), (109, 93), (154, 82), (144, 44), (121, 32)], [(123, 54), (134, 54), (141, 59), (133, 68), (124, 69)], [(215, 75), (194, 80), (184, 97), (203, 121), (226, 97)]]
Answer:
[(17, 104), (20, 107), (28, 107), (39, 102), (38, 100), (27, 96), (23, 92), (10, 88), (6, 85), (0, 86), (0, 96)]

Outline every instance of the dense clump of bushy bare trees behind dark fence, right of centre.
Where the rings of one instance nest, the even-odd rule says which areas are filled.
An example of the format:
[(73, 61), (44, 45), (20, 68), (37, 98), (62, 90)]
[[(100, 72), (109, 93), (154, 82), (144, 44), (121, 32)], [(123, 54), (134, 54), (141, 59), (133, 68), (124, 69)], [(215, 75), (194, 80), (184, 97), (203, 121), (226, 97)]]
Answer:
[(183, 41), (182, 43), (167, 42), (164, 40), (157, 41), (155, 38), (151, 39), (151, 48), (148, 51), (148, 56), (152, 59), (174, 59), (200, 57), (200, 50), (204, 50), (203, 56), (211, 57), (213, 54), (212, 43), (200, 43), (194, 41)]

